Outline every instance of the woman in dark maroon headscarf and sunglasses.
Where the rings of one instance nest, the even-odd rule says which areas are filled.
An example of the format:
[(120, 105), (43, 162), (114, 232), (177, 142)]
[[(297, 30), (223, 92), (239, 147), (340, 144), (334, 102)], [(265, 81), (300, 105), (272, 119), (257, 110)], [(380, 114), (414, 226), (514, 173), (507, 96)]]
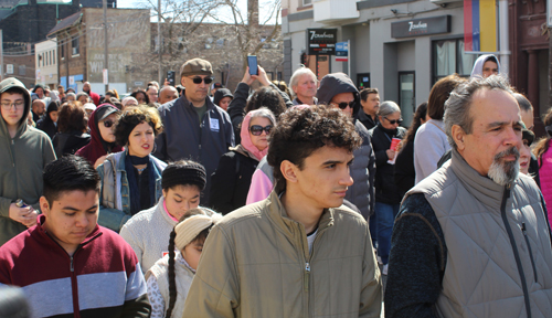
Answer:
[(110, 104), (103, 104), (88, 117), (91, 142), (78, 149), (75, 155), (86, 158), (94, 168), (104, 162), (107, 155), (123, 150), (115, 144), (115, 125), (118, 120), (119, 109)]

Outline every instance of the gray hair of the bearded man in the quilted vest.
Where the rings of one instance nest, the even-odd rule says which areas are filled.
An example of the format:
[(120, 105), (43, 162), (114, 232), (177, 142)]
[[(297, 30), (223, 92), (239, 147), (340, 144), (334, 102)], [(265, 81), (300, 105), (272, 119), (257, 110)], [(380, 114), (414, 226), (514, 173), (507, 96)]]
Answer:
[(477, 91), (482, 88), (500, 89), (513, 97), (508, 78), (498, 75), (491, 75), (487, 78), (471, 77), (468, 82), (456, 86), (447, 102), (445, 102), (445, 116), (443, 117), (448, 144), (453, 149), (457, 149), (453, 138), (453, 126), (458, 125), (466, 134), (471, 134), (474, 128), (474, 118), (469, 116), (471, 97)]

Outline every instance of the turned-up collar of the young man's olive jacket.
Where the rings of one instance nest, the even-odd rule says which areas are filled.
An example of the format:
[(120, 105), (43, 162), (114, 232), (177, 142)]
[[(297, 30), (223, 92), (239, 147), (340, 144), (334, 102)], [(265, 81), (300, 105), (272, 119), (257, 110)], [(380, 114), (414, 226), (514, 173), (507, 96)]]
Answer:
[[(295, 240), (297, 235), (300, 234), (299, 229), (302, 226), (297, 221), (294, 221), (287, 216), (286, 208), (282, 204), (278, 194), (276, 191), (270, 192), (268, 197), (268, 219), (277, 226), (280, 232), (283, 232), (287, 237)], [(318, 222), (318, 233), (320, 233), (323, 229), (333, 225), (333, 209), (325, 209), (322, 215), (320, 216), (320, 221)], [(307, 233), (305, 233), (307, 234)]]

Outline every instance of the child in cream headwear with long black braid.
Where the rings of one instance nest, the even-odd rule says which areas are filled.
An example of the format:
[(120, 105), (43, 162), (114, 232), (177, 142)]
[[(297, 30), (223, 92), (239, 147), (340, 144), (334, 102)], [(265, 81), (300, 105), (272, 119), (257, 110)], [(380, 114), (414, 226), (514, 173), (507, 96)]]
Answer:
[(151, 318), (182, 317), (203, 243), (221, 218), (219, 213), (208, 215), (202, 209), (192, 209), (174, 226), (170, 233), (169, 255), (157, 261), (146, 274)]

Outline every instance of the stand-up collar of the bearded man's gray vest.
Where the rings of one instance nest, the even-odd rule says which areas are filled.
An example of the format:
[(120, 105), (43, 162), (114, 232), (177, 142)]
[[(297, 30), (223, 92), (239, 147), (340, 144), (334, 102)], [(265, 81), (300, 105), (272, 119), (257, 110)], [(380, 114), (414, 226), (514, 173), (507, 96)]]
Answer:
[(500, 211), (505, 187), (488, 177), (479, 174), (455, 149), (453, 149), (453, 157), (449, 162), (458, 180), (476, 200), (497, 212)]

